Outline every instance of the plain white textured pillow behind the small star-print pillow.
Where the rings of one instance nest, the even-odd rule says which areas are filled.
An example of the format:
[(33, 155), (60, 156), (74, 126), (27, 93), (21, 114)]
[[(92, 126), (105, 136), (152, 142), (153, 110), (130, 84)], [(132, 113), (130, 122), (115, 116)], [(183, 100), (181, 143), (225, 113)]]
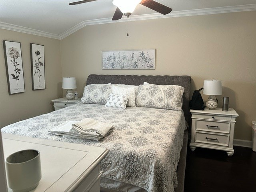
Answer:
[(112, 93), (118, 95), (128, 95), (129, 99), (127, 106), (136, 107), (135, 98), (136, 98), (136, 86), (133, 85), (112, 85)]

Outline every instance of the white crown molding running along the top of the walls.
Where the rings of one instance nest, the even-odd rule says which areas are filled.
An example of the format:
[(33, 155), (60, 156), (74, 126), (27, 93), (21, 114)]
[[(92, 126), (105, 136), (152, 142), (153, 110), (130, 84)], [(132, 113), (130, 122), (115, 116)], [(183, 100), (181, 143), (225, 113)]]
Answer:
[[(131, 15), (129, 17), (129, 21), (206, 15), (206, 14), (220, 14), (220, 13), (242, 12), (242, 11), (255, 11), (255, 10), (256, 10), (256, 4), (250, 4), (250, 5), (241, 5), (241, 6), (228, 6), (228, 7), (196, 9), (196, 10), (173, 11), (167, 15), (162, 15), (160, 13), (135, 15), (135, 16)], [(112, 21), (111, 19), (112, 18), (103, 18), (103, 19), (83, 21), (60, 35), (44, 32), (44, 31), (40, 31), (40, 30), (34, 30), (31, 28), (26, 28), (26, 27), (22, 27), (22, 26), (18, 26), (18, 25), (12, 25), (12, 24), (8, 24), (8, 23), (4, 23), (4, 22), (0, 22), (0, 28), (62, 40), (65, 37), (69, 36), (70, 34), (80, 30), (81, 28), (83, 28), (86, 25), (106, 24), (106, 23), (124, 22), (125, 21), (123, 19), (117, 20), (117, 21)]]

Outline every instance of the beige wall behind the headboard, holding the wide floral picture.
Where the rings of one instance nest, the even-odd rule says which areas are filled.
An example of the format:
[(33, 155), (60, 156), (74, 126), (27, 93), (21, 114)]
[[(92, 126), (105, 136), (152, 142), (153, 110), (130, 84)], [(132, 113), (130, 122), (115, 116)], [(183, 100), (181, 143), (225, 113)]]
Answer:
[[(63, 76), (78, 94), (89, 74), (190, 75), (191, 95), (205, 79), (222, 80), (239, 117), (234, 138), (251, 140), (256, 120), (256, 12), (236, 12), (91, 25), (61, 40)], [(102, 50), (156, 49), (155, 70), (102, 70)], [(203, 95), (204, 100), (208, 96)]]

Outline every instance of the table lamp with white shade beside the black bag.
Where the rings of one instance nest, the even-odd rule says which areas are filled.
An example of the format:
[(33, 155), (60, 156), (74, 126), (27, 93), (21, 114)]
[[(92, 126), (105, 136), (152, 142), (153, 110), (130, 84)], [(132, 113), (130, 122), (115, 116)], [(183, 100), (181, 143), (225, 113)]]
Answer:
[(215, 95), (222, 95), (221, 80), (204, 80), (203, 94), (210, 95), (206, 102), (208, 109), (214, 110), (218, 106), (218, 99)]

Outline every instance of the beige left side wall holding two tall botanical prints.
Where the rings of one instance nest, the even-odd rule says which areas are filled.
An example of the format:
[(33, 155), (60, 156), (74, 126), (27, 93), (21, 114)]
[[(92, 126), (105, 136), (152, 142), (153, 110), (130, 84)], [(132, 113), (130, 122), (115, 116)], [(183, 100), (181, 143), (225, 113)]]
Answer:
[[(52, 111), (51, 100), (62, 97), (60, 40), (0, 29), (0, 128)], [(8, 94), (3, 40), (21, 42), (25, 92)], [(30, 43), (44, 45), (46, 89), (32, 90)]]

